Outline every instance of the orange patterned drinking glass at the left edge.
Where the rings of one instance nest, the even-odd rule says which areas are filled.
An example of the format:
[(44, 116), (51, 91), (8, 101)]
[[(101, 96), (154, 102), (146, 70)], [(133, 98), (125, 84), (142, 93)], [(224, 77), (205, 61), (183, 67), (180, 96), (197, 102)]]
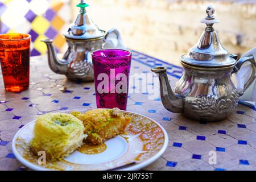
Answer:
[(30, 42), (28, 34), (0, 35), (0, 62), (7, 91), (21, 92), (30, 85)]

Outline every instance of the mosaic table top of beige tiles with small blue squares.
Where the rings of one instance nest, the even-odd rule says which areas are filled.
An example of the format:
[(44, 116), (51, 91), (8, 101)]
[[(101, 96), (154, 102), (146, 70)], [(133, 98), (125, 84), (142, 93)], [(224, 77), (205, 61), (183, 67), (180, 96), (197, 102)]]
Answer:
[[(135, 51), (131, 73), (151, 73), (150, 68), (160, 65), (169, 68), (174, 85), (183, 73), (182, 68)], [(45, 56), (31, 59), (29, 90), (5, 92), (1, 76), (0, 80), (0, 170), (27, 170), (15, 159), (11, 140), (38, 115), (96, 108), (93, 82), (71, 82), (53, 73)], [(64, 92), (60, 89), (63, 86), (67, 87)], [(159, 89), (158, 83), (155, 88)], [(144, 170), (256, 170), (255, 105), (245, 106), (241, 102), (245, 105), (239, 104), (236, 113), (225, 121), (200, 123), (167, 111), (160, 98), (148, 100), (147, 94), (130, 94), (127, 110), (159, 122), (169, 135), (169, 146), (161, 158)], [(210, 151), (216, 152), (217, 164), (209, 164)]]

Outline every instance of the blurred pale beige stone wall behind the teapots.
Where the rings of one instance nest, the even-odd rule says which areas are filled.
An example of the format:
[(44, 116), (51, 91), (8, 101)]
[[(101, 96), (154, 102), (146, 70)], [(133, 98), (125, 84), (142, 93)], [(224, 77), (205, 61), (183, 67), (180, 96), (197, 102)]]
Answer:
[[(204, 31), (205, 9), (214, 5), (214, 27), (230, 53), (256, 47), (256, 1), (88, 0), (88, 12), (103, 30), (117, 27), (126, 46), (179, 65)], [(76, 1), (77, 3), (77, 1)], [(75, 9), (75, 14), (78, 10)]]

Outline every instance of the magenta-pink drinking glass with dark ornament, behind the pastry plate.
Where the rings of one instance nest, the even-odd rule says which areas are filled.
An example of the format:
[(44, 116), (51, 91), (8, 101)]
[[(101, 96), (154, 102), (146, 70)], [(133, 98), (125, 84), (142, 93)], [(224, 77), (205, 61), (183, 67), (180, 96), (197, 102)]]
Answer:
[(97, 107), (126, 110), (131, 52), (100, 49), (92, 53), (92, 61)]

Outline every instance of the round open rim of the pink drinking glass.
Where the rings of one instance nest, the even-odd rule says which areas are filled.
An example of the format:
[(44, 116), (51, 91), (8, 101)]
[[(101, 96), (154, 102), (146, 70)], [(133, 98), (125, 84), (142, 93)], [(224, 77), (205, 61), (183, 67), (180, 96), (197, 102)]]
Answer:
[[(118, 52), (118, 53), (123, 53), (122, 56), (102, 56), (100, 55), (100, 53), (108, 53), (110, 51), (113, 51), (113, 52)], [(132, 53), (130, 51), (127, 51), (127, 50), (124, 50), (124, 49), (99, 49), (97, 51), (93, 51), (92, 52), (92, 56), (94, 57), (101, 57), (101, 58), (104, 58), (104, 59), (120, 59), (120, 58), (125, 58), (125, 57), (130, 57), (132, 55)]]

